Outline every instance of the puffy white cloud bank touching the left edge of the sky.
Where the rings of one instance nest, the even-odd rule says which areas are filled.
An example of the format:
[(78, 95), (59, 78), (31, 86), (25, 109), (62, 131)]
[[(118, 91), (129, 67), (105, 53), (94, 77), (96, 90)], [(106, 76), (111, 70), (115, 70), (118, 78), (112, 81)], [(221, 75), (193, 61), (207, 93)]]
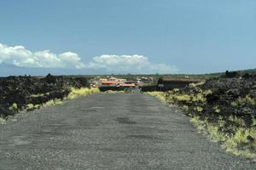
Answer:
[(41, 68), (84, 68), (78, 54), (53, 54), (49, 50), (31, 52), (23, 46), (9, 47), (0, 43), (0, 63)]

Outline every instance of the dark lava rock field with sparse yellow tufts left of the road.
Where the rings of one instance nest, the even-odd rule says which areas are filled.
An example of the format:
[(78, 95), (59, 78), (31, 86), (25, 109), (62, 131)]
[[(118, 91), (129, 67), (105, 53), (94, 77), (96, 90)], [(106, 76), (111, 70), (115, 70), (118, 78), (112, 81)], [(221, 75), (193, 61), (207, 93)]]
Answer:
[(85, 77), (5, 77), (0, 79), (0, 116), (29, 111), (55, 99), (62, 100), (70, 87), (88, 87)]

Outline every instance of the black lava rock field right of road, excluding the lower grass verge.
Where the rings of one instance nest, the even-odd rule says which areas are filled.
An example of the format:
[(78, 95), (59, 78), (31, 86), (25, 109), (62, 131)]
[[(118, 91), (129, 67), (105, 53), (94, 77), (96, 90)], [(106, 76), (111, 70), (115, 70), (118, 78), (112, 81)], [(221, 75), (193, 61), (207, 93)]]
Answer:
[[(235, 73), (232, 73), (235, 74)], [(236, 77), (226, 73), (223, 77), (208, 79), (205, 83), (190, 84), (182, 90), (174, 89), (165, 93), (166, 101), (187, 108), (188, 113), (216, 122), (219, 117), (226, 119), (236, 116), (244, 122), (239, 126), (255, 126), (256, 118), (256, 76), (245, 74)]]

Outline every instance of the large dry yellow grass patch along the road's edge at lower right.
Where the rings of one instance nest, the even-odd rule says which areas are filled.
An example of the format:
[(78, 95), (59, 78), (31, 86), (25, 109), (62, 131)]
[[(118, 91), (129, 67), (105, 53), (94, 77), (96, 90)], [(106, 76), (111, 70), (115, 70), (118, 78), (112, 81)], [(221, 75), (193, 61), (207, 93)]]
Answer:
[(249, 159), (256, 159), (256, 128), (255, 127), (230, 127), (233, 134), (223, 132), (224, 121), (219, 120), (218, 124), (203, 121), (199, 116), (191, 118), (190, 122), (200, 133), (207, 134), (213, 142), (219, 142), (228, 153), (242, 156)]

